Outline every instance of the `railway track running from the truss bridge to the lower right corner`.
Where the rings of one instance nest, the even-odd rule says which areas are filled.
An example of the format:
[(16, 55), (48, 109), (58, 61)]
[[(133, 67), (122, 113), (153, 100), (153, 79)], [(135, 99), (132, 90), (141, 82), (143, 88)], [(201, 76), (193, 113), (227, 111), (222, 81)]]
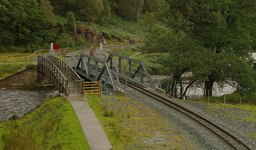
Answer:
[[(120, 79), (120, 78), (119, 78)], [(120, 80), (120, 82), (125, 83), (126, 81), (124, 80)], [(162, 103), (164, 103), (165, 105), (171, 107), (172, 109), (175, 109), (179, 112), (181, 112), (182, 114), (188, 116), (189, 118), (192, 118), (193, 120), (195, 120), (197, 123), (201, 124), (202, 126), (204, 126), (205, 128), (207, 128), (208, 130), (212, 131), (213, 133), (215, 133), (217, 136), (219, 136), (221, 139), (223, 139), (229, 146), (231, 146), (233, 149), (235, 150), (252, 150), (249, 146), (247, 146), (245, 143), (243, 143), (241, 140), (237, 139), (235, 136), (233, 136), (232, 134), (230, 134), (228, 131), (225, 131), (224, 129), (222, 129), (221, 127), (219, 127), (218, 125), (212, 123), (211, 121), (205, 119), (202, 116), (197, 115), (196, 113), (180, 106), (179, 104), (176, 104), (160, 95), (157, 95), (155, 93), (152, 93), (132, 82), (127, 82), (127, 86), (130, 86), (133, 89), (138, 90), (140, 93), (143, 93), (157, 101), (160, 101)]]

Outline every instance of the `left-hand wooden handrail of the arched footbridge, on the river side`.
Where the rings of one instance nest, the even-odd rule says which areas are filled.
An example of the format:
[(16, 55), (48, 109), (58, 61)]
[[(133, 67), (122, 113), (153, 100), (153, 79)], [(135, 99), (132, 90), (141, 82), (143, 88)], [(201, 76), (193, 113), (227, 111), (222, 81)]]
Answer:
[(43, 56), (38, 56), (37, 65), (38, 71), (42, 72), (45, 76), (47, 76), (59, 89), (60, 93), (68, 95), (68, 79), (65, 79), (63, 77), (58, 68), (53, 65), (53, 63), (49, 59)]

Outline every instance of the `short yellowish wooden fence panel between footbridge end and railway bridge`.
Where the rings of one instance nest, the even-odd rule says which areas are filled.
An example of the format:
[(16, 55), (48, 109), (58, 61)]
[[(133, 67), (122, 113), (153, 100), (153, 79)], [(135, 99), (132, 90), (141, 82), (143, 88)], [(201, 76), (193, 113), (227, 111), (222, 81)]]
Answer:
[(99, 94), (100, 96), (100, 81), (83, 82), (83, 94)]

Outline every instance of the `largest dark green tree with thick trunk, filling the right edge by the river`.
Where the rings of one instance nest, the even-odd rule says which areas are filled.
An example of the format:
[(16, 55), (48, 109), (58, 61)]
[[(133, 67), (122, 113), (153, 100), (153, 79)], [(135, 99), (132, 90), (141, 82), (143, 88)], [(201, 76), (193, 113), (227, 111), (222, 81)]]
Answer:
[[(207, 49), (208, 53), (204, 56), (207, 59), (198, 60), (198, 63), (195, 62), (188, 69), (193, 71), (195, 79), (204, 79), (206, 95), (208, 91), (212, 95), (214, 82), (228, 83), (237, 89), (252, 91), (255, 90), (255, 72), (250, 53), (255, 47), (255, 3), (252, 0), (165, 0), (162, 1), (165, 8), (147, 16), (174, 33), (184, 33), (185, 39), (196, 41), (194, 44), (199, 43)], [(175, 39), (179, 37), (178, 35)], [(154, 43), (154, 37), (152, 38), (149, 41)], [(155, 44), (158, 45), (164, 45), (169, 40), (159, 40), (159, 37), (155, 39), (157, 38)], [(184, 42), (187, 41), (189, 40)], [(191, 45), (191, 50), (193, 47)], [(177, 53), (170, 47), (168, 49)], [(191, 56), (190, 59), (195, 58)], [(184, 63), (176, 60), (176, 63)]]

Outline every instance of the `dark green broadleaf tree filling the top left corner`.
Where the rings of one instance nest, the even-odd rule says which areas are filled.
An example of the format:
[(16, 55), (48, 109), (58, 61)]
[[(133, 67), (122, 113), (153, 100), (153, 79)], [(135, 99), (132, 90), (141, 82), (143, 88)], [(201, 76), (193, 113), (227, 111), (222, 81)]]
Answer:
[(36, 0), (2, 0), (0, 12), (0, 45), (43, 45), (53, 40)]

